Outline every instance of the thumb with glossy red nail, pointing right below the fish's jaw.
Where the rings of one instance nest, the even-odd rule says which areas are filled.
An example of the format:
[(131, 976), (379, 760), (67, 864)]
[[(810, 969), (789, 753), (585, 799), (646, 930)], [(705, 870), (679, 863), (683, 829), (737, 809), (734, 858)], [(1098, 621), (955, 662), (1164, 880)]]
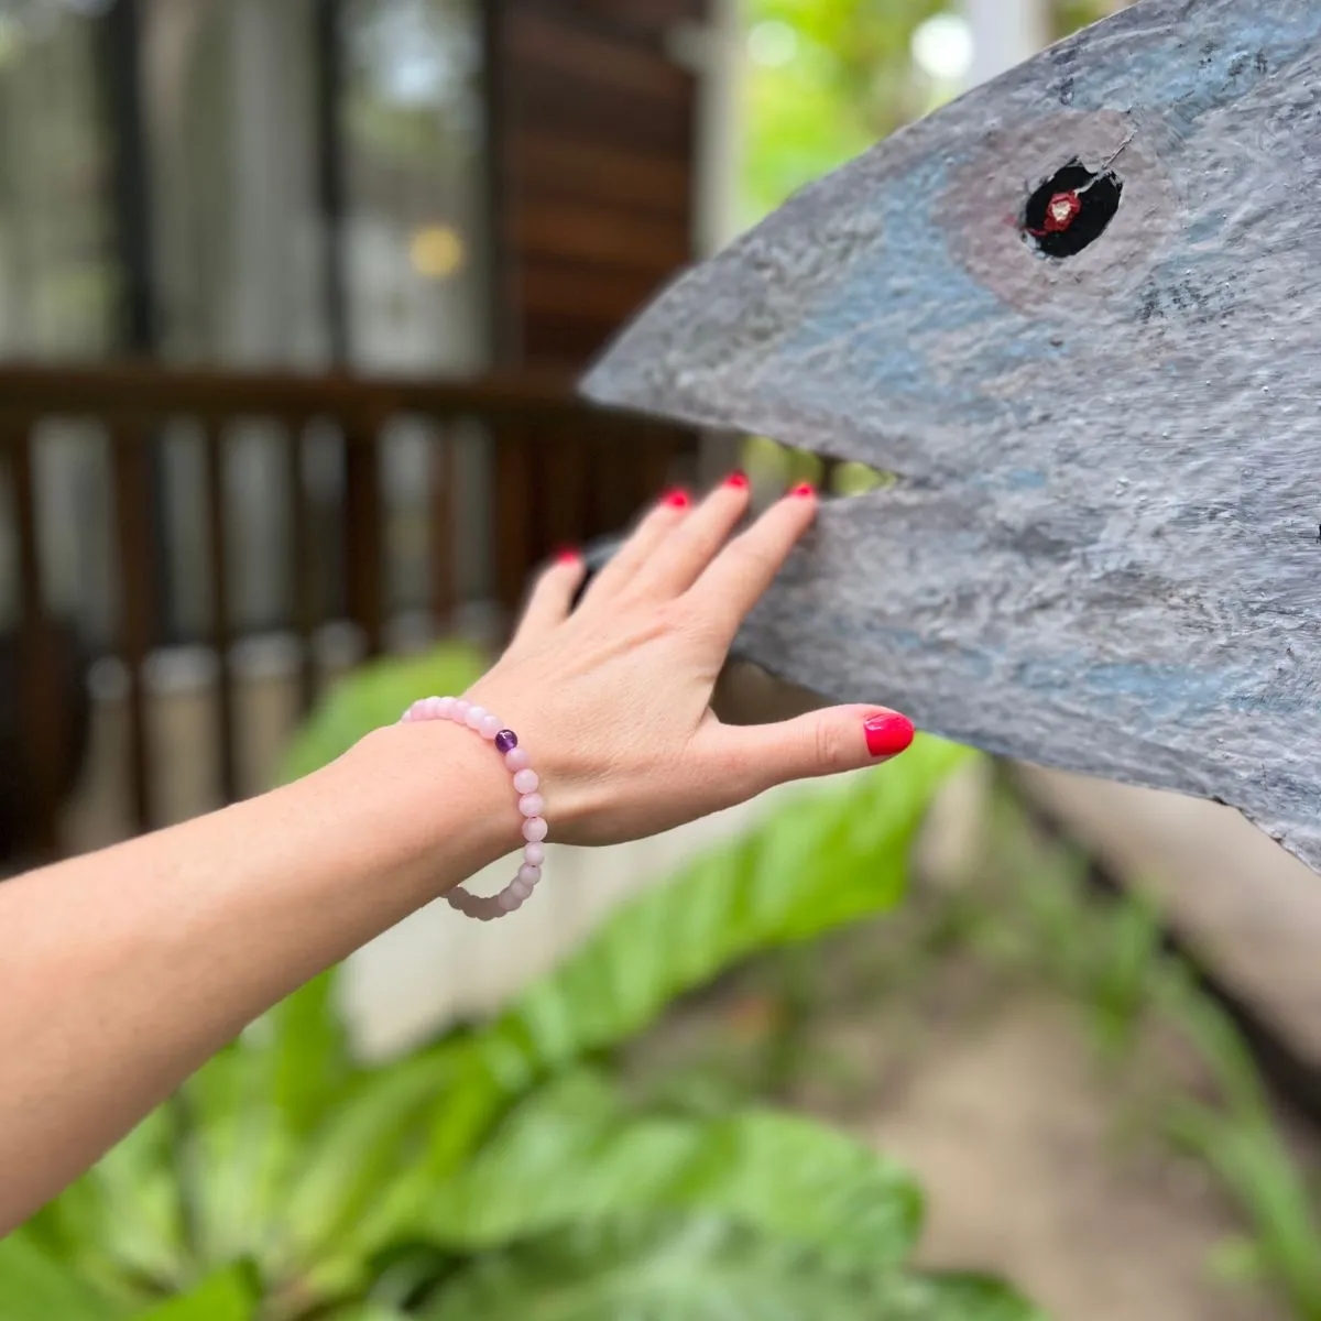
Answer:
[(748, 797), (791, 779), (861, 770), (913, 742), (913, 721), (886, 707), (826, 707), (770, 725), (719, 725), (723, 765)]

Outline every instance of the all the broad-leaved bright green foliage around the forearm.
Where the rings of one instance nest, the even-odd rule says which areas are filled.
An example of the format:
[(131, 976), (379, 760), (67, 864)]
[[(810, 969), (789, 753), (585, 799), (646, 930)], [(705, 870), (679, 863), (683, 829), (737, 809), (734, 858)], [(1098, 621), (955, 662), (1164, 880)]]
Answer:
[[(480, 659), (363, 670), (289, 773)], [(1030, 1317), (995, 1281), (911, 1269), (922, 1198), (886, 1157), (764, 1106), (630, 1095), (610, 1069), (675, 997), (896, 904), (962, 756), (926, 740), (804, 793), (490, 1022), (392, 1062), (354, 1059), (336, 974), (309, 983), (0, 1243), (0, 1321)]]

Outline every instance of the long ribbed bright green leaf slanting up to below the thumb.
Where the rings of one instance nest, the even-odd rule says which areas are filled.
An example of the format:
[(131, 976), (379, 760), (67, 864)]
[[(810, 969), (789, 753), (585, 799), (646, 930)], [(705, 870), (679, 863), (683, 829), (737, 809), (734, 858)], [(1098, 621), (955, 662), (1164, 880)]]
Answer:
[(627, 1040), (676, 996), (753, 954), (892, 908), (927, 803), (966, 749), (918, 738), (845, 786), (804, 791), (744, 839), (612, 914), (477, 1046), (510, 1094)]

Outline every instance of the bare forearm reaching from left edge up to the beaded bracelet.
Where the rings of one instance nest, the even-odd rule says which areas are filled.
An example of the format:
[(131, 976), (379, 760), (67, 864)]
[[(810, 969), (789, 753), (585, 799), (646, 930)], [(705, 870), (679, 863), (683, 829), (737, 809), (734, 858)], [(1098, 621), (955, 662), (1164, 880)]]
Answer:
[(296, 785), (0, 888), (0, 1234), (247, 1022), (513, 847), (483, 752), (383, 731)]

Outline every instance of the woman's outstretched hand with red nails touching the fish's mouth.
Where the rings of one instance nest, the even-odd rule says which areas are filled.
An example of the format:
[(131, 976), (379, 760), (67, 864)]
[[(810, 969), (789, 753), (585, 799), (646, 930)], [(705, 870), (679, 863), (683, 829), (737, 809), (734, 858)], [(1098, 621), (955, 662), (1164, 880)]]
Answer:
[(542, 778), (551, 839), (609, 844), (668, 830), (774, 785), (902, 752), (913, 725), (877, 707), (721, 724), (711, 694), (744, 617), (816, 513), (799, 486), (745, 531), (734, 474), (694, 506), (671, 493), (592, 581), (544, 571), (509, 650), (466, 694), (514, 729)]

